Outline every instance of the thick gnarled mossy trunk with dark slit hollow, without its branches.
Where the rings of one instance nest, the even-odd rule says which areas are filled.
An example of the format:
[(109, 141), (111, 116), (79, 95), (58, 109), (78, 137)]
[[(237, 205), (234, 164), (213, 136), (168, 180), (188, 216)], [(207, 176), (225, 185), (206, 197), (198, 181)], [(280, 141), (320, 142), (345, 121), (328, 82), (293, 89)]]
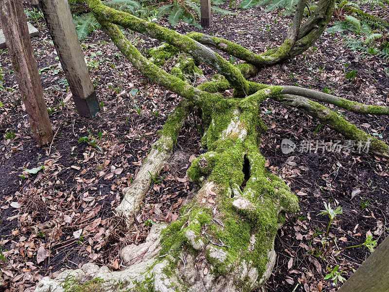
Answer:
[(298, 208), (289, 187), (265, 169), (258, 147), (265, 131), (259, 103), (280, 90), (212, 104), (209, 152), (188, 170), (200, 190), (176, 221), (154, 226), (145, 243), (122, 250), (123, 271), (87, 264), (54, 280), (45, 277), (35, 292), (59, 292), (61, 282), (68, 291), (83, 292), (85, 286), (74, 281), (88, 275), (100, 283), (100, 292), (248, 292), (263, 285), (275, 263), (274, 238), (285, 212)]

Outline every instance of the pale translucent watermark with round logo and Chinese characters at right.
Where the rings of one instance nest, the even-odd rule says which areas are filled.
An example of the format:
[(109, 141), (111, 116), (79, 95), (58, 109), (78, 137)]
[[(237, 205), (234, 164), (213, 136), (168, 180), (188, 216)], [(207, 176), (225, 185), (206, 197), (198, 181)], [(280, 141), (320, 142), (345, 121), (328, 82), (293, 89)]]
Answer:
[(281, 142), (281, 151), (283, 154), (289, 154), (295, 149), (300, 153), (324, 153), (324, 152), (347, 152), (347, 153), (368, 153), (370, 148), (369, 141), (354, 140), (302, 140), (297, 146), (296, 143), (289, 139), (283, 139)]

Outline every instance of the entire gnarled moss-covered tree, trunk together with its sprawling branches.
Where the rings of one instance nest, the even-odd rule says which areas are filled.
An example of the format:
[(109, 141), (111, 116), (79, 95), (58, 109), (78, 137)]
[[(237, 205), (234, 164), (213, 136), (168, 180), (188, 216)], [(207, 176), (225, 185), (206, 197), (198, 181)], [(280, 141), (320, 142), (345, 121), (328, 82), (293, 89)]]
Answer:
[[(86, 264), (82, 269), (65, 271), (56, 279), (43, 278), (36, 292), (83, 291), (86, 288), (88, 291), (238, 292), (263, 285), (274, 265), (277, 230), (285, 213), (298, 209), (296, 196), (279, 177), (265, 169), (265, 158), (259, 151), (260, 135), (266, 130), (259, 109), (266, 98), (297, 107), (349, 139), (370, 141), (375, 154), (389, 157), (389, 147), (385, 143), (311, 99), (360, 113), (388, 114), (388, 107), (366, 106), (318, 91), (269, 86), (245, 79), (245, 76), (255, 74), (258, 66), (280, 62), (312, 45), (330, 19), (334, 0), (320, 0), (318, 7), (321, 10), (315, 11), (303, 25), (301, 9), (305, 1), (300, 0), (283, 45), (262, 55), (220, 38), (180, 35), (108, 8), (100, 0), (87, 2), (107, 35), (133, 66), (153, 82), (183, 98), (141, 166), (134, 184), (126, 189), (117, 212), (131, 224), (131, 217), (150, 185), (151, 178), (146, 173), (150, 171), (154, 176), (159, 172), (173, 149), (179, 128), (194, 107), (202, 112), (206, 131), (201, 142), (208, 152), (195, 158), (188, 169), (189, 178), (200, 185), (194, 198), (180, 209), (175, 222), (169, 226), (154, 226), (146, 242), (122, 250), (122, 271), (111, 272), (107, 267)], [(152, 50), (147, 59), (116, 25), (166, 44)], [(208, 46), (251, 63), (232, 66)], [(164, 52), (157, 56), (160, 50)], [(180, 65), (173, 67), (171, 73), (160, 69), (159, 66), (177, 55), (177, 51), (186, 54), (177, 57)], [(211, 81), (197, 87), (192, 86), (186, 82), (190, 71), (203, 76), (198, 68), (195, 69), (194, 60), (204, 62), (221, 75), (215, 75)], [(231, 97), (218, 93), (230, 88), (234, 90)]]

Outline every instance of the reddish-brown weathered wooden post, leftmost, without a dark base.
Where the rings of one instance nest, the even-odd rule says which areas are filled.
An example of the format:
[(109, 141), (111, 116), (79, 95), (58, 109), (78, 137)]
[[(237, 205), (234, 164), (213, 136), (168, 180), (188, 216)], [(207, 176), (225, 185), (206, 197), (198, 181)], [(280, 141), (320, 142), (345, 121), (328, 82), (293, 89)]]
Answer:
[(49, 113), (28, 33), (21, 0), (0, 0), (0, 21), (8, 53), (18, 79), (20, 95), (30, 118), (31, 131), (39, 146), (53, 140)]

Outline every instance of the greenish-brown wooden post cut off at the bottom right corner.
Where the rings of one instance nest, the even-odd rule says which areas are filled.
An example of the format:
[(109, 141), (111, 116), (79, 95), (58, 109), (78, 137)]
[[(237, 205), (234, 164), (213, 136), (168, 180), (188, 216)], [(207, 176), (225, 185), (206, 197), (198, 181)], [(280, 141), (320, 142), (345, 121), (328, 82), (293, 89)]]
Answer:
[(389, 236), (337, 292), (389, 292)]

